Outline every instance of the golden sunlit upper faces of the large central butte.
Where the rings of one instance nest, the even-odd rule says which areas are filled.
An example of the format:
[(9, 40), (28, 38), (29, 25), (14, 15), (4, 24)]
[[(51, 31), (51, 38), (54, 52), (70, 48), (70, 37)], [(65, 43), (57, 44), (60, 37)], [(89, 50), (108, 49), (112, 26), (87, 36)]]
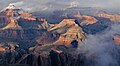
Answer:
[(85, 39), (82, 28), (75, 23), (75, 19), (64, 19), (62, 22), (51, 28), (50, 31), (60, 34), (60, 38), (54, 44), (69, 45), (71, 41), (77, 40), (79, 43)]

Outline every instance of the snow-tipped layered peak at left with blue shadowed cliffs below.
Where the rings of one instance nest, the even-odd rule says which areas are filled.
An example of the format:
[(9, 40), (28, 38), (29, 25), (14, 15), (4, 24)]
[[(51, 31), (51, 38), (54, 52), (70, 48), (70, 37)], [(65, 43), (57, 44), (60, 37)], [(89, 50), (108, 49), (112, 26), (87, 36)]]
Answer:
[(35, 18), (31, 13), (13, 4), (0, 11), (0, 37), (3, 39), (33, 40), (50, 27), (45, 18)]

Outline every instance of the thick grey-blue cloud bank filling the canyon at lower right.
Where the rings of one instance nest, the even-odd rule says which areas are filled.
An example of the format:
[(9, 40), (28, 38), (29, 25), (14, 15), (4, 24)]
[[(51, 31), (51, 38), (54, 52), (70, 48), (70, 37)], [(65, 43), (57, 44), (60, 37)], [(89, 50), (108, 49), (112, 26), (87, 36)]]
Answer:
[(95, 62), (92, 66), (119, 66), (120, 46), (112, 39), (114, 35), (120, 34), (119, 28), (120, 24), (113, 24), (103, 33), (88, 35), (87, 39), (79, 45), (78, 52), (86, 53), (88, 60)]

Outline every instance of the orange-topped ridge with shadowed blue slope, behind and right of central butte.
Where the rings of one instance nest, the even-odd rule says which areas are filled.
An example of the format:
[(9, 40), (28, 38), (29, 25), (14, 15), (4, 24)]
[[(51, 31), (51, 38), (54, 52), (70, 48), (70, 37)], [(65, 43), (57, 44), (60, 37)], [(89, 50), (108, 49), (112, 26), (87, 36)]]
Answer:
[(80, 12), (74, 15), (78, 24), (87, 34), (96, 34), (102, 32), (109, 27), (113, 22), (104, 17), (81, 15)]

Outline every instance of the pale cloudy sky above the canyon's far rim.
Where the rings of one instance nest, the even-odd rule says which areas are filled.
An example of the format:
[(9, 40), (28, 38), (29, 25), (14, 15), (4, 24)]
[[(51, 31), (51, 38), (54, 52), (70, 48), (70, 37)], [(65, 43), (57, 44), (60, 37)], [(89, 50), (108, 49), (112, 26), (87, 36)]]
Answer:
[(0, 9), (9, 3), (29, 11), (65, 9), (74, 6), (120, 9), (120, 0), (0, 0)]

